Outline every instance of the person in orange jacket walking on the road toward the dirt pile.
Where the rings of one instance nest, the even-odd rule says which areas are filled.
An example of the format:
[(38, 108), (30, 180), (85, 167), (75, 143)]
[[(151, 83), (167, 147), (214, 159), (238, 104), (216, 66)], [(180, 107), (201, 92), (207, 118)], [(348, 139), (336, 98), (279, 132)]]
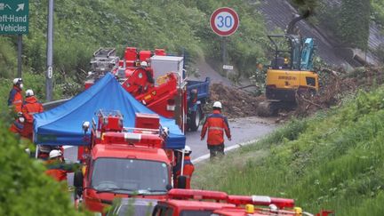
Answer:
[(206, 117), (201, 132), (201, 140), (204, 140), (205, 133), (208, 131), (207, 147), (210, 150), (211, 159), (218, 155), (224, 156), (224, 132), (228, 140), (232, 140), (227, 117), (221, 114), (220, 101), (215, 101), (212, 108), (213, 113)]

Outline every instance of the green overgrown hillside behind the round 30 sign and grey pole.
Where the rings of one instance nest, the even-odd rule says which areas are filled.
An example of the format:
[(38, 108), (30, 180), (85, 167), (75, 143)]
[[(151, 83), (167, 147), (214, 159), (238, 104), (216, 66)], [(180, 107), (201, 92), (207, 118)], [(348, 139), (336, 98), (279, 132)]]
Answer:
[[(29, 34), (23, 37), (25, 86), (36, 90), (40, 99), (45, 98), (47, 4), (43, 0), (29, 2)], [(174, 54), (184, 51), (189, 62), (202, 57), (220, 61), (221, 39), (212, 32), (209, 19), (221, 6), (234, 8), (240, 16), (240, 27), (228, 37), (229, 62), (243, 73), (251, 73), (256, 68), (254, 62), (264, 56), (267, 38), (261, 15), (244, 1), (55, 1), (55, 98), (79, 91), (92, 53), (101, 46), (116, 47), (119, 56), (124, 47), (136, 46), (141, 50), (165, 48)], [(16, 36), (0, 36), (3, 106), (11, 78), (17, 74), (16, 44)]]

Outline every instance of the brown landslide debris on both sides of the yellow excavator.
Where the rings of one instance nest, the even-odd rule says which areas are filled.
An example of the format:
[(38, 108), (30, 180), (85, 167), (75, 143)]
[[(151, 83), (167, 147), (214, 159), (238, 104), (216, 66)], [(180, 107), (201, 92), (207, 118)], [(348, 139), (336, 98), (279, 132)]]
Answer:
[[(290, 116), (310, 116), (319, 109), (339, 106), (342, 99), (359, 89), (369, 91), (372, 86), (384, 84), (383, 68), (356, 68), (353, 72), (322, 69), (319, 72), (320, 91), (316, 95), (296, 95), (297, 107), (294, 110), (279, 110), (276, 122)], [(234, 86), (212, 84), (211, 102), (204, 106), (204, 113), (212, 112), (212, 102), (219, 100), (223, 105), (223, 114), (229, 118), (257, 116), (260, 102), (264, 95), (253, 96)]]

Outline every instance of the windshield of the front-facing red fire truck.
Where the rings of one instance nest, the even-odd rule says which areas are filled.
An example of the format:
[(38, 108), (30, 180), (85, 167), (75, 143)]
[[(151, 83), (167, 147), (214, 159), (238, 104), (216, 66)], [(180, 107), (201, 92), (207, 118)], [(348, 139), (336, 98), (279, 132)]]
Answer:
[(164, 194), (167, 184), (168, 168), (165, 163), (99, 158), (93, 164), (91, 186), (99, 192)]

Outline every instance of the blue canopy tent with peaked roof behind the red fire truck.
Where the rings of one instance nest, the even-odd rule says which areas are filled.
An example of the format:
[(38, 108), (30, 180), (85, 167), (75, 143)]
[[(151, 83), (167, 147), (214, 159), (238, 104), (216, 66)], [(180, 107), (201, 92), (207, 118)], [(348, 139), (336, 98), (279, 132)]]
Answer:
[[(108, 73), (88, 90), (78, 94), (57, 108), (35, 114), (34, 142), (44, 145), (86, 145), (82, 124), (97, 119), (100, 110), (120, 110), (124, 127), (134, 127), (135, 113), (154, 114), (124, 90), (116, 78)], [(166, 148), (184, 148), (185, 136), (173, 119), (160, 116), (160, 124), (169, 128)], [(90, 132), (87, 133), (90, 136)]]

